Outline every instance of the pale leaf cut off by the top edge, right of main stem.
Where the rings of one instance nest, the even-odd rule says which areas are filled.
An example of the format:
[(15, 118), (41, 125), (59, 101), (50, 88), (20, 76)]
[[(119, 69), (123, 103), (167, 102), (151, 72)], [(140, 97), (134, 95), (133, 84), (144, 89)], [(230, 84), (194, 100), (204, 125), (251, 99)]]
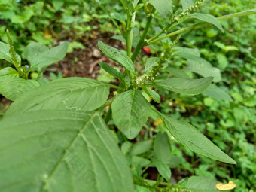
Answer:
[(150, 2), (160, 13), (161, 17), (166, 17), (168, 12), (172, 13), (172, 0), (150, 0)]

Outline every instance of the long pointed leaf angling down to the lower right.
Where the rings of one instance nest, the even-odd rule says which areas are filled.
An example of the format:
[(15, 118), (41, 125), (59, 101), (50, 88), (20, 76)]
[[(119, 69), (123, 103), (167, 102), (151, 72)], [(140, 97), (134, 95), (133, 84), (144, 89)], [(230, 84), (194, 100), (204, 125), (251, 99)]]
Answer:
[[(158, 114), (160, 114), (158, 112)], [(166, 125), (167, 130), (185, 147), (197, 154), (209, 157), (213, 160), (220, 160), (225, 163), (236, 164), (236, 161), (221, 151), (206, 136), (200, 133), (194, 126), (184, 121), (176, 120), (160, 114), (160, 118)]]

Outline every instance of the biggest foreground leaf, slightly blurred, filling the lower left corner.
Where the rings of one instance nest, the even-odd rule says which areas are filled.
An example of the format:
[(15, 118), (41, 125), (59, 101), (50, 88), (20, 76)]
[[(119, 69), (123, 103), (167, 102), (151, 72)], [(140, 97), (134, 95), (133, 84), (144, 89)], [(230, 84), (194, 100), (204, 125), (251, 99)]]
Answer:
[(126, 160), (95, 112), (41, 110), (0, 122), (2, 192), (133, 191)]

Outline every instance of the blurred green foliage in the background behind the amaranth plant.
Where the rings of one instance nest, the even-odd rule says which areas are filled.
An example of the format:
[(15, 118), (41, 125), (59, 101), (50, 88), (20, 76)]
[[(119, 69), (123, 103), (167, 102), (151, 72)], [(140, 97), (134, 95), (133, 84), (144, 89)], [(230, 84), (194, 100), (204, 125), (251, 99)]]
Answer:
[[(123, 13), (119, 1), (100, 2), (112, 13)], [(175, 8), (181, 8), (179, 1), (173, 2)], [(255, 8), (253, 0), (215, 0), (204, 2), (199, 12), (220, 17), (251, 8)], [(145, 26), (142, 11), (139, 12), (137, 19), (135, 33)], [(155, 16), (155, 24), (164, 26), (166, 22), (167, 20)], [(8, 27), (18, 53), (21, 53), (32, 41), (50, 47), (55, 46), (59, 41), (69, 41), (69, 52), (72, 52), (74, 49), (86, 49), (83, 39), (95, 38), (96, 32), (120, 35), (108, 20), (108, 14), (93, 2), (83, 0), (1, 0), (0, 23), (1, 41), (8, 42), (5, 35)], [(154, 23), (149, 34), (159, 30), (154, 28)], [(189, 26), (193, 23), (193, 20), (188, 20), (182, 25)], [(178, 172), (206, 175), (217, 178), (218, 181), (230, 180), (237, 184), (235, 191), (252, 192), (256, 190), (256, 16), (224, 20), (221, 24), (224, 33), (215, 27), (204, 26), (182, 34), (178, 46), (197, 49), (212, 66), (220, 69), (221, 81), (216, 84), (230, 94), (233, 102), (201, 95), (188, 97), (166, 91), (161, 103), (156, 104), (156, 107), (165, 114), (192, 123), (237, 162), (236, 166), (233, 166), (199, 157), (178, 145), (175, 139), (170, 139), (172, 154), (179, 158), (180, 165), (177, 164), (175, 168)], [(167, 42), (172, 40), (169, 39)], [(163, 45), (164, 43), (160, 42), (150, 46), (151, 54), (164, 51)], [(138, 62), (142, 64), (146, 57), (148, 55), (142, 54), (141, 61)], [(177, 69), (186, 69), (187, 66), (187, 61), (178, 57), (167, 62)], [(7, 65), (9, 64), (0, 61), (0, 69)], [(113, 81), (113, 78), (108, 77), (104, 72), (99, 73), (99, 80)], [(191, 74), (188, 72), (188, 75)], [(161, 91), (163, 93), (164, 90)], [(1, 115), (2, 111), (0, 109)], [(135, 142), (153, 140), (155, 135), (152, 131), (157, 133), (163, 129), (163, 123), (154, 114), (151, 114), (151, 119), (152, 123), (145, 127), (145, 133), (138, 136)], [(119, 140), (121, 145), (127, 144), (122, 136), (119, 136)], [(141, 148), (144, 148), (143, 145)], [(143, 159), (151, 157), (151, 148), (146, 145), (139, 156), (136, 154), (137, 157), (142, 159), (133, 160), (133, 163), (137, 166), (141, 163), (142, 166), (145, 163)]]

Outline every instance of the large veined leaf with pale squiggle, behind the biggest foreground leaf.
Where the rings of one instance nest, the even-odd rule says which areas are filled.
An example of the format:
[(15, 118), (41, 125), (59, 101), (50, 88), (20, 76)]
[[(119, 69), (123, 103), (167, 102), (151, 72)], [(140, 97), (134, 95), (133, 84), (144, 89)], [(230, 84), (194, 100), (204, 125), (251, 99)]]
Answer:
[(23, 94), (5, 115), (38, 109), (93, 111), (105, 103), (108, 94), (108, 84), (89, 78), (60, 78)]

